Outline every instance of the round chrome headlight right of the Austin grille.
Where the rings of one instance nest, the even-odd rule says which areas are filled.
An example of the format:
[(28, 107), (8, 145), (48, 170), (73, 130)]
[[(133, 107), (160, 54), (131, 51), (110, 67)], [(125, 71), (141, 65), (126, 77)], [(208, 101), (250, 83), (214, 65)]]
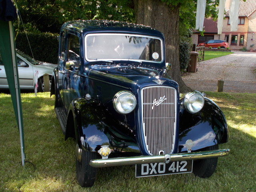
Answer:
[(204, 106), (204, 96), (198, 91), (187, 93), (183, 100), (184, 108), (190, 113), (199, 112)]

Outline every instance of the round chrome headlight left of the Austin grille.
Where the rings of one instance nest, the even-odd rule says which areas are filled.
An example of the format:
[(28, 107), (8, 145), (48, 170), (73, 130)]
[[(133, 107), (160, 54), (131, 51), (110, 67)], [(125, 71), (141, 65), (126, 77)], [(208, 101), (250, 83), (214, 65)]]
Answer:
[(114, 96), (113, 104), (118, 113), (128, 114), (136, 107), (136, 98), (129, 91), (120, 91)]

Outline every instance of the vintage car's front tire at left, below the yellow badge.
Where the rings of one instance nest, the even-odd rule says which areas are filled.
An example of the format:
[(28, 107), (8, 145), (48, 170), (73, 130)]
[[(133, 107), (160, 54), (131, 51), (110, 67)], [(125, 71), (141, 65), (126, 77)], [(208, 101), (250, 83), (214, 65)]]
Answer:
[(91, 187), (93, 186), (96, 178), (97, 168), (90, 166), (89, 162), (90, 160), (97, 158), (97, 153), (85, 151), (80, 148), (78, 150), (80, 150), (80, 152), (76, 151), (76, 153), (80, 153), (80, 157), (78, 158), (78, 155), (76, 155), (77, 181), (82, 187)]

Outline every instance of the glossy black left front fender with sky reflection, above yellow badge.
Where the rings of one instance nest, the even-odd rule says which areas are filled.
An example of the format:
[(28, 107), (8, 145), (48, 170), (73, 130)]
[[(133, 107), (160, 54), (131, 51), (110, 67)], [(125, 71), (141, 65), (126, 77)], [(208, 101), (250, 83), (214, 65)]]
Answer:
[(76, 142), (84, 150), (98, 152), (101, 146), (108, 145), (115, 152), (140, 152), (134, 134), (124, 134), (127, 128), (116, 122), (97, 100), (73, 100), (68, 112), (66, 138), (72, 136), (72, 123)]

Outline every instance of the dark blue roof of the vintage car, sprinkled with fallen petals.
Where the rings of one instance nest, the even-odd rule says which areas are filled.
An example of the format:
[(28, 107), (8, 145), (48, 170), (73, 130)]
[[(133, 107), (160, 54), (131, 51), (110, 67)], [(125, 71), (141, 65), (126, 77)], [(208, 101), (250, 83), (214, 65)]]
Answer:
[(64, 23), (61, 30), (70, 29), (78, 33), (97, 31), (115, 31), (115, 32), (137, 32), (142, 34), (148, 34), (152, 36), (159, 36), (164, 38), (163, 34), (158, 30), (145, 26), (142, 24), (133, 24), (128, 22), (120, 21), (109, 21), (109, 20), (73, 20)]

